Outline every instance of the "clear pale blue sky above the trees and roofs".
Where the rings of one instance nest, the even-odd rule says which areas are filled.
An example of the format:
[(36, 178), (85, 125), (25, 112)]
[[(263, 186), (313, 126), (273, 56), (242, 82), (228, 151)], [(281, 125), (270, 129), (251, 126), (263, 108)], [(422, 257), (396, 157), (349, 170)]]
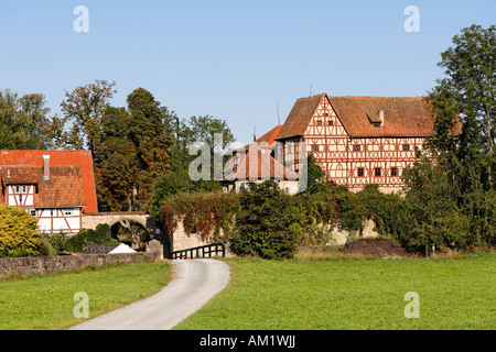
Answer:
[[(76, 6), (89, 32), (76, 33)], [(403, 10), (420, 11), (408, 33)], [(224, 119), (241, 143), (314, 95), (422, 96), (443, 76), (440, 53), (496, 1), (34, 1), (0, 0), (0, 89), (65, 91), (116, 81), (114, 106), (143, 87), (180, 118)]]

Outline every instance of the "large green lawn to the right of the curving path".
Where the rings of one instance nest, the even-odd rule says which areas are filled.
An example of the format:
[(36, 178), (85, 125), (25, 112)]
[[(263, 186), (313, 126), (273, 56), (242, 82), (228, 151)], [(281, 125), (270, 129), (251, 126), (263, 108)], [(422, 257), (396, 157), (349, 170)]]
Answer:
[[(176, 329), (495, 329), (496, 257), (226, 260), (229, 286)], [(406, 318), (405, 295), (420, 318)]]

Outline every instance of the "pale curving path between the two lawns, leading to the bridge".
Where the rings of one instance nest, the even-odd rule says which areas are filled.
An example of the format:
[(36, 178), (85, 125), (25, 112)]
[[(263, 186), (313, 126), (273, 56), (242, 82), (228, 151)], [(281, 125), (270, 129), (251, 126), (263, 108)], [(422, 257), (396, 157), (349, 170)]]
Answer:
[(173, 279), (160, 293), (71, 330), (169, 330), (198, 310), (229, 282), (229, 266), (220, 261), (200, 258), (171, 263)]

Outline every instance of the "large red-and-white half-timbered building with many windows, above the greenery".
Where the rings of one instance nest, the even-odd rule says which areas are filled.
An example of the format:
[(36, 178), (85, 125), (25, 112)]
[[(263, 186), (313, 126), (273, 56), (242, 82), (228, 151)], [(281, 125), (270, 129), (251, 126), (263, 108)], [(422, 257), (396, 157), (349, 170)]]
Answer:
[[(298, 99), (277, 141), (284, 165), (302, 168), (302, 148), (312, 153), (326, 176), (358, 190), (367, 184), (391, 191), (432, 133), (424, 98), (328, 97)], [(305, 155), (305, 154), (303, 154)]]

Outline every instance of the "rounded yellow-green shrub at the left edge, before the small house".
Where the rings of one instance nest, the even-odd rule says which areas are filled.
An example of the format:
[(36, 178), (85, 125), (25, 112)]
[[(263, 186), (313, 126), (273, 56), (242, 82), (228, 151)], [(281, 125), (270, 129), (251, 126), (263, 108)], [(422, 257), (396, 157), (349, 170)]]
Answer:
[(24, 209), (0, 206), (0, 256), (33, 256), (40, 253), (36, 218)]

